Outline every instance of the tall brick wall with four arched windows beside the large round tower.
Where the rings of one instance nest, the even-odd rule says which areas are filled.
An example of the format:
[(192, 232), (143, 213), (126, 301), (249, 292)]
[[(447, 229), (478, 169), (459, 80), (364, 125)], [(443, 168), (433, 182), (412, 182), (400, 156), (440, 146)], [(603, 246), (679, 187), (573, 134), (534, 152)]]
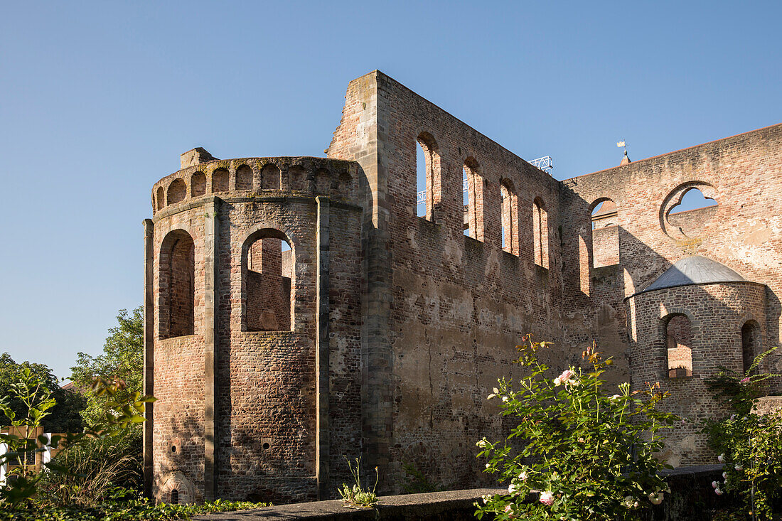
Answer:
[[(367, 136), (364, 113), (377, 113), (376, 143)], [(416, 216), (416, 147), (422, 134), (438, 156), (431, 219)], [(368, 175), (376, 196), (374, 229), (368, 233), (377, 234), (390, 252), (376, 275), (368, 273), (386, 284), (376, 289), (382, 293), (368, 291), (368, 313), (385, 318), (378, 325), (384, 331), (364, 338), (370, 356), (364, 403), (370, 466), (377, 462), (385, 470), (382, 490), (399, 490), (403, 462), (447, 487), (482, 483), (486, 478), (472, 457), (475, 440), (503, 431), (487, 390), (500, 375), (518, 372), (511, 360), (523, 334), (558, 339), (558, 183), (379, 72), (351, 82), (328, 155), (378, 171), (375, 179)], [(463, 233), (465, 163), (482, 178), (474, 210), (475, 235), (482, 240)], [(500, 243), (502, 180), (519, 187), (512, 213), (518, 219), (513, 224), (518, 255), (504, 252)], [(533, 257), (536, 198), (548, 217), (544, 268)], [(365, 248), (372, 250), (372, 238), (366, 240)]]

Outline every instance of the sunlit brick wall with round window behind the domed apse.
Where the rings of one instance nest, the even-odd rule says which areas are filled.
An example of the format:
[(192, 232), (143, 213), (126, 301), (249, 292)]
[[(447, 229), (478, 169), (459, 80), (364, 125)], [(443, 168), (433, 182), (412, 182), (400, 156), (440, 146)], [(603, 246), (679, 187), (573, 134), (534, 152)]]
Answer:
[[(622, 300), (644, 289), (676, 260), (698, 254), (768, 286), (763, 347), (777, 345), (782, 214), (775, 201), (782, 193), (780, 173), (782, 125), (775, 125), (562, 181), (562, 277), (565, 314), (572, 318), (563, 322), (565, 343), (583, 349), (597, 338), (601, 349), (620, 362), (615, 381), (626, 379)], [(719, 206), (669, 215), (691, 187)], [(617, 206), (619, 264), (587, 270), (594, 264), (597, 235), (590, 212), (602, 198)], [(579, 242), (586, 247), (579, 249)], [(740, 332), (741, 326), (737, 335)], [(773, 361), (775, 371), (780, 360), (777, 356)]]

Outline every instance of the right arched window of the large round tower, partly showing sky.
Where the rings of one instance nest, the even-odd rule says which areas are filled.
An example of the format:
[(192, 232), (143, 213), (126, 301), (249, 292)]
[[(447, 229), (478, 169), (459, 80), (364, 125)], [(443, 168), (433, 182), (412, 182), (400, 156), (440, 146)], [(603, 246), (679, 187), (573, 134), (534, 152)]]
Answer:
[(292, 331), (294, 258), (285, 235), (264, 229), (244, 248), (246, 331)]

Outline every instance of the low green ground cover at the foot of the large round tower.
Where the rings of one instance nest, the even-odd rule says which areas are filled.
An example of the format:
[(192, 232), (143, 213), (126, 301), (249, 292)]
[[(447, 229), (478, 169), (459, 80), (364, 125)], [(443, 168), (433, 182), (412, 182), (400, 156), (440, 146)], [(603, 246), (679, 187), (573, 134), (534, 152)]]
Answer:
[(155, 505), (134, 490), (113, 488), (107, 490), (102, 501), (94, 505), (59, 505), (38, 501), (29, 505), (0, 503), (0, 521), (137, 521), (156, 519), (172, 521), (189, 519), (212, 512), (231, 512), (269, 506), (269, 503), (248, 501), (213, 501), (204, 505)]

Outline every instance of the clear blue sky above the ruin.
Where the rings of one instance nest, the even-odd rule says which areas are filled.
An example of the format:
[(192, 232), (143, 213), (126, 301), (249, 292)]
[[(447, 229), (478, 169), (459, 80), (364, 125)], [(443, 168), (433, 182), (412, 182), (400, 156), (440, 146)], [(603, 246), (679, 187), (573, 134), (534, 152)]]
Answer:
[(569, 178), (782, 121), (780, 2), (5, 2), (0, 352), (70, 374), (142, 302), (150, 189), (203, 146), (322, 156), (379, 69)]

